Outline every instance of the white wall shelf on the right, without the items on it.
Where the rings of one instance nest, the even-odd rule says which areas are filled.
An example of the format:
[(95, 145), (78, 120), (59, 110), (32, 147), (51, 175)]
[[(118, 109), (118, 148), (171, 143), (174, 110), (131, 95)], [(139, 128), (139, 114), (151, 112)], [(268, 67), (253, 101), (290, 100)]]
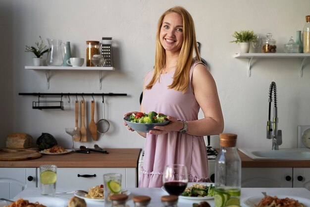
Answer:
[(248, 76), (251, 77), (251, 67), (253, 58), (301, 58), (300, 77), (303, 77), (305, 60), (310, 57), (310, 53), (237, 53), (235, 58), (248, 58)]

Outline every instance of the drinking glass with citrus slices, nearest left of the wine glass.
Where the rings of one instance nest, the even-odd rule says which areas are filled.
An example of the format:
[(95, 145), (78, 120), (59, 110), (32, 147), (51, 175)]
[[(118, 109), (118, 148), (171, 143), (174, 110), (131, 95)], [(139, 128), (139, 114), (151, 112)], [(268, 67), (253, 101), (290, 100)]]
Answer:
[(122, 190), (122, 174), (108, 173), (103, 175), (104, 183), (104, 206), (110, 205), (110, 196), (120, 194)]

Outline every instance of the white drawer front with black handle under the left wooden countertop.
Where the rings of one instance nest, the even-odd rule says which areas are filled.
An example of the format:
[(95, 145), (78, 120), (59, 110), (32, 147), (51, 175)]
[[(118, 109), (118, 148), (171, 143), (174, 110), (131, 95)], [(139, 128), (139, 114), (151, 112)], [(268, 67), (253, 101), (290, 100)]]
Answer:
[[(38, 168), (38, 174), (39, 174)], [(137, 183), (136, 168), (57, 168), (58, 187), (75, 187), (87, 190), (90, 187), (103, 184), (103, 174), (122, 174), (122, 186), (124, 188), (135, 188)], [(40, 178), (38, 179), (40, 183)]]

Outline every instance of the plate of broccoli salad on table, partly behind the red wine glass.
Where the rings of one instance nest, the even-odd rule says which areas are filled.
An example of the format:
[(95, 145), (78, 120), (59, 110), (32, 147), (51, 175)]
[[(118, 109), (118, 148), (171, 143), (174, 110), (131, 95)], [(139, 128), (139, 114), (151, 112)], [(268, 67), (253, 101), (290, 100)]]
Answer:
[[(166, 192), (163, 186), (161, 189)], [(214, 199), (214, 183), (188, 183), (179, 198), (188, 200)]]

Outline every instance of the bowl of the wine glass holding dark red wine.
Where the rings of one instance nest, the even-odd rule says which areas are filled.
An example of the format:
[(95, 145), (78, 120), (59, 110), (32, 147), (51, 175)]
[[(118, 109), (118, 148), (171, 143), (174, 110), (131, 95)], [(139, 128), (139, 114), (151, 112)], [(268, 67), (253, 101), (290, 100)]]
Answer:
[(170, 195), (181, 195), (188, 182), (186, 166), (183, 164), (166, 165), (162, 175), (162, 182), (165, 190)]

